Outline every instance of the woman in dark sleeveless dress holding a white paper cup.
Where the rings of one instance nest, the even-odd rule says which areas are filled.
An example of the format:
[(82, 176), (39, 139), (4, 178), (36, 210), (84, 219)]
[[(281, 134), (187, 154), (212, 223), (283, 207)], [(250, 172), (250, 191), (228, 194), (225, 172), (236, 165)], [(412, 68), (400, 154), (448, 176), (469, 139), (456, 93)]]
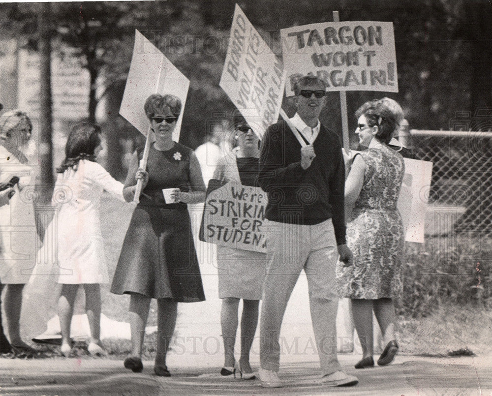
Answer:
[(130, 161), (123, 195), (128, 202), (133, 200), (137, 180), (143, 182), (142, 192), (126, 232), (111, 292), (130, 295), (132, 351), (124, 366), (134, 372), (143, 369), (145, 326), (151, 299), (157, 299), (154, 372), (170, 376), (166, 352), (176, 326), (178, 302), (205, 300), (187, 204), (203, 202), (206, 190), (193, 151), (172, 140), (181, 100), (170, 94), (153, 94), (144, 110), (155, 142), (146, 171), (138, 167), (143, 148), (137, 149)]

